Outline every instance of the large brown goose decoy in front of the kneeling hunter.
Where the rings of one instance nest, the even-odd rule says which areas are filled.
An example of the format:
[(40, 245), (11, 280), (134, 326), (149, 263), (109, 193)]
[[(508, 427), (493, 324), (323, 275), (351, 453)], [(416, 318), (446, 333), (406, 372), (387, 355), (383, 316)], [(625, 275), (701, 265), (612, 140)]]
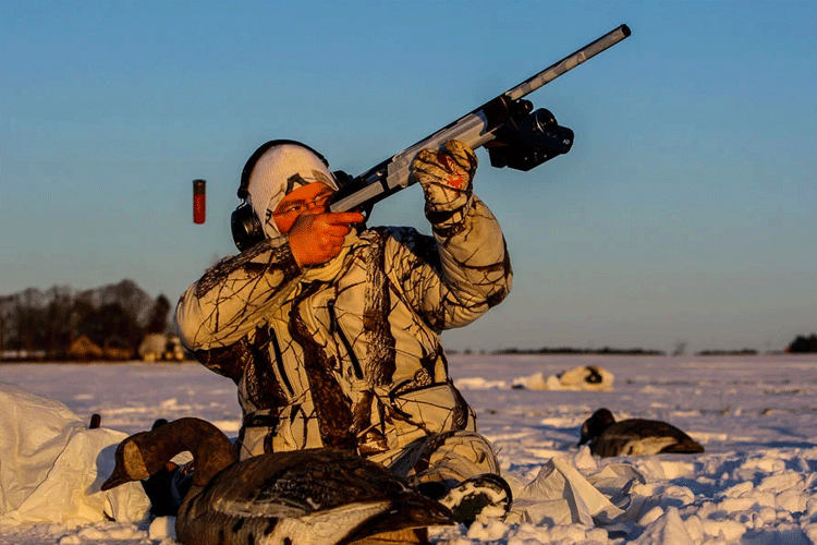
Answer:
[(175, 521), (183, 545), (345, 545), (401, 531), (423, 543), (425, 530), (410, 529), (453, 524), (446, 507), (378, 463), (334, 449), (239, 461), (219, 428), (192, 417), (124, 439), (102, 489), (147, 479), (185, 450), (196, 469)]

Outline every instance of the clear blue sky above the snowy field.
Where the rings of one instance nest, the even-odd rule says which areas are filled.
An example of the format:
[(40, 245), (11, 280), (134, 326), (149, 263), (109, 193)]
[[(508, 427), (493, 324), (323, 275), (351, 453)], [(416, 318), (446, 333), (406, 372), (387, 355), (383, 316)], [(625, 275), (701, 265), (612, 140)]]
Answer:
[[(576, 133), (476, 192), (509, 299), (450, 348), (784, 348), (817, 330), (817, 9), (736, 2), (0, 2), (0, 294), (131, 278), (171, 301), (234, 253), (244, 161), (359, 173), (618, 25), (528, 98)], [(192, 180), (207, 222), (192, 222)], [(420, 191), (371, 222), (428, 232)]]

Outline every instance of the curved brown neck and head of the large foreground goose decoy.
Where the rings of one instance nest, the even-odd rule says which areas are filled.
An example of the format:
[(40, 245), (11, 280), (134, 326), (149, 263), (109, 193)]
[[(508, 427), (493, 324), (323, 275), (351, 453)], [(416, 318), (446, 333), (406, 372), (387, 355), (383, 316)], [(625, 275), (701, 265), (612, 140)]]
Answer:
[(193, 486), (206, 485), (218, 472), (239, 461), (232, 443), (218, 427), (200, 419), (179, 419), (120, 443), (115, 467), (102, 489), (145, 480), (184, 451), (190, 451), (196, 463)]

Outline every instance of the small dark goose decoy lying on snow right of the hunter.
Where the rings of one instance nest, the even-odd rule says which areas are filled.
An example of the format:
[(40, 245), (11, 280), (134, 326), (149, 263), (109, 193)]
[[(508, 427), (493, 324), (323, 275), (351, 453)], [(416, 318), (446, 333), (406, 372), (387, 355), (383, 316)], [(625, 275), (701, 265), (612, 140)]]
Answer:
[(699, 443), (671, 424), (644, 419), (615, 422), (610, 410), (603, 408), (582, 425), (578, 446), (586, 443), (590, 444), (590, 452), (601, 458), (704, 451)]

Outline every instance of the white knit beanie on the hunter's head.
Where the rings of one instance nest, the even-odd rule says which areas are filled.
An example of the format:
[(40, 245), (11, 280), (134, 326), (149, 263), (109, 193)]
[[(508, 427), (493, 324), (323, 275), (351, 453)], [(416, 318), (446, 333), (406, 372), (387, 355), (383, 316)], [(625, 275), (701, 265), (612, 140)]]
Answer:
[(321, 182), (334, 191), (338, 183), (324, 161), (304, 146), (281, 144), (261, 155), (253, 168), (247, 184), (253, 211), (264, 226), (264, 234), (280, 237), (272, 213), (278, 203), (292, 191)]

